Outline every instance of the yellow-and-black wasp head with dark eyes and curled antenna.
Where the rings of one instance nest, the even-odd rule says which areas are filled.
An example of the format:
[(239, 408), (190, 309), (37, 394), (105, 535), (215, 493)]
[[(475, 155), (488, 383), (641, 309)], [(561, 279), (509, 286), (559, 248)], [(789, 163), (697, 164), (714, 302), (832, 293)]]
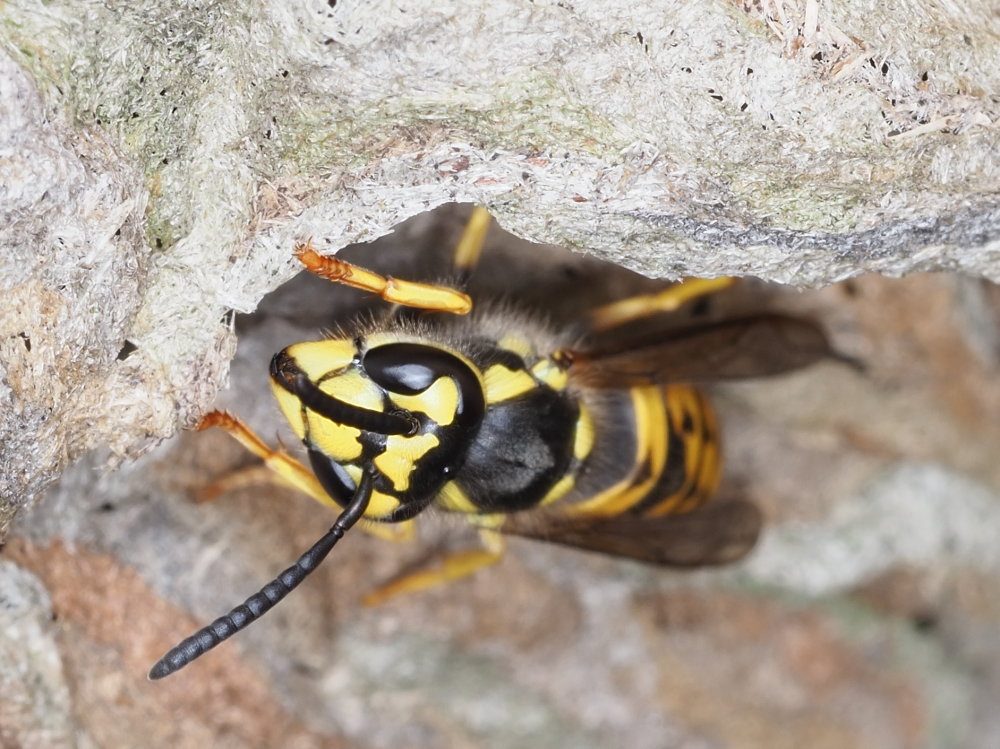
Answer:
[(417, 514), (465, 461), (485, 410), (478, 370), (436, 344), (370, 339), (298, 343), (271, 361), (272, 388), (341, 503), (377, 469), (368, 515)]

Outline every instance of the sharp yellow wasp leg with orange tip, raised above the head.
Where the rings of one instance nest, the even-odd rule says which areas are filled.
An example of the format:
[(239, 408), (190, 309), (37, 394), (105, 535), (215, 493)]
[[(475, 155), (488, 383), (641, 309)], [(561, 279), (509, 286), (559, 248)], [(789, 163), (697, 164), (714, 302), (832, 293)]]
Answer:
[(295, 257), (310, 273), (334, 283), (370, 291), (393, 304), (415, 307), (432, 312), (451, 312), (465, 315), (472, 310), (472, 300), (457, 289), (435, 284), (403, 281), (392, 276), (380, 276), (346, 260), (324, 257), (306, 242), (295, 248)]

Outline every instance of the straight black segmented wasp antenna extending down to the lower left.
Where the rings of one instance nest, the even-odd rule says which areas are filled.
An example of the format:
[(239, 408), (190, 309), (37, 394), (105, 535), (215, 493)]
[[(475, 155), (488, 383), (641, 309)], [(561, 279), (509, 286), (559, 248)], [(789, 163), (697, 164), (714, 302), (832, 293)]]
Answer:
[(199, 656), (204, 655), (223, 640), (245, 629), (271, 610), (282, 598), (291, 593), (299, 583), (315, 570), (330, 553), (343, 535), (365, 514), (372, 496), (372, 472), (366, 470), (358, 484), (358, 490), (344, 511), (337, 517), (323, 537), (299, 557), (291, 567), (269, 582), (257, 593), (234, 608), (225, 616), (220, 616), (207, 627), (202, 627), (190, 637), (182, 640), (164, 655), (149, 670), (149, 678), (162, 679), (179, 671)]

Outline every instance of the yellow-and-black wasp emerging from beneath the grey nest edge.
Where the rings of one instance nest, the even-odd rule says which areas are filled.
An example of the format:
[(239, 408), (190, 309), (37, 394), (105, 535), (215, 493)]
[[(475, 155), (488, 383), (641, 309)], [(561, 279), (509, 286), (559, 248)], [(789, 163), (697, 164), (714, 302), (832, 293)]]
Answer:
[(474, 308), (464, 289), (490, 221), (473, 210), (447, 285), (383, 276), (309, 243), (296, 248), (310, 272), (392, 305), (271, 360), (274, 396), (308, 466), (228, 413), (212, 411), (200, 426), (225, 429), (339, 515), (291, 567), (164, 655), (151, 679), (260, 618), (359, 521), (405, 536), (435, 507), (463, 515), (483, 542), (383, 586), (368, 603), (494, 564), (506, 535), (669, 567), (732, 562), (754, 546), (761, 515), (752, 503), (708, 502), (720, 442), (697, 383), (815, 362), (831, 353), (822, 329), (779, 314), (677, 321), (674, 311), (732, 279), (690, 279), (602, 304), (569, 328), (509, 303)]

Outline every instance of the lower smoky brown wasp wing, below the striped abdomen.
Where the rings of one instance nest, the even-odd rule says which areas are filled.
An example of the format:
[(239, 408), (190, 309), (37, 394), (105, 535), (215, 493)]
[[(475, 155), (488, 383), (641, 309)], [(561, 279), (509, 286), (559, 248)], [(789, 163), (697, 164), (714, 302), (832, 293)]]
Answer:
[(734, 500), (664, 517), (515, 514), (500, 530), (648, 564), (703, 567), (744, 557), (754, 547), (761, 525), (755, 505)]

